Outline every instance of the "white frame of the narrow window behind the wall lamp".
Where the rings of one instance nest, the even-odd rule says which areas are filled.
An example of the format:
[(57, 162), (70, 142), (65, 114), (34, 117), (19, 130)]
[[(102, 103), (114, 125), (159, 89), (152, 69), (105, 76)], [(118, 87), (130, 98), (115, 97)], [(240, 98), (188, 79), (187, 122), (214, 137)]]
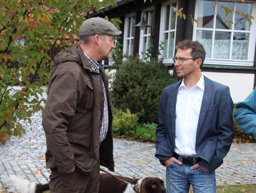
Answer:
[[(150, 36), (150, 39), (151, 39), (151, 28), (152, 28), (152, 23), (153, 23), (153, 11), (154, 11), (154, 7), (150, 7), (150, 8), (148, 8), (148, 9), (142, 10), (142, 12), (141, 12), (141, 17), (140, 17), (141, 19), (142, 19), (143, 14), (144, 14), (145, 12), (147, 12), (147, 11), (151, 12), (152, 15), (151, 15), (150, 13), (148, 13), (148, 16), (150, 16), (150, 17), (152, 18), (152, 20), (151, 20), (151, 23), (150, 23), (150, 17), (148, 17), (148, 21), (145, 20), (145, 22), (146, 22), (148, 25), (151, 26), (151, 27), (146, 27), (145, 30), (147, 30), (147, 33), (144, 34), (145, 30), (140, 30), (140, 34), (139, 34), (139, 56), (142, 57), (142, 59), (144, 59), (144, 56), (143, 56), (143, 54), (142, 54), (142, 52), (143, 52), (144, 37), (147, 37), (147, 42), (146, 42), (147, 48), (146, 48), (146, 50), (148, 49), (148, 45), (150, 44), (150, 42), (148, 42), (148, 37)], [(145, 18), (144, 18), (144, 19), (145, 19)], [(152, 39), (151, 39), (151, 45), (152, 45)], [(147, 60), (150, 60), (150, 58), (148, 58)]]

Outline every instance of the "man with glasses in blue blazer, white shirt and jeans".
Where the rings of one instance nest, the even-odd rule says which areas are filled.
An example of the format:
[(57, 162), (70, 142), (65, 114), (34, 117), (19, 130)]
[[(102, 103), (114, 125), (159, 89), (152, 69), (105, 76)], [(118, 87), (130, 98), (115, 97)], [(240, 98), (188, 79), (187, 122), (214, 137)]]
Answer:
[(184, 40), (173, 58), (179, 82), (164, 89), (156, 128), (156, 158), (166, 166), (168, 193), (216, 193), (215, 170), (233, 140), (229, 87), (201, 75), (205, 50)]

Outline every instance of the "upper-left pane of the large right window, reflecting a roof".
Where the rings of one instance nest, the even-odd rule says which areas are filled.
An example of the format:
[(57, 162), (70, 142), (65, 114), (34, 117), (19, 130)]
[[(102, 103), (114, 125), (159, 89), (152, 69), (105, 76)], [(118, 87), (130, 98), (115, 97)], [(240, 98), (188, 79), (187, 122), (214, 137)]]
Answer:
[(215, 1), (199, 1), (198, 10), (203, 11), (198, 11), (197, 27), (213, 28), (213, 7)]

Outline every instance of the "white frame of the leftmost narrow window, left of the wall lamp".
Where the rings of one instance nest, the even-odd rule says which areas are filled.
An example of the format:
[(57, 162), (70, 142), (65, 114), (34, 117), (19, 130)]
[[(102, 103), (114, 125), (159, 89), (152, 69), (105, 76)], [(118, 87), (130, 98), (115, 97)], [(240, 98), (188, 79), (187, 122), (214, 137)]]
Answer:
[[(130, 26), (128, 26), (128, 21), (129, 21), (129, 18), (132, 18), (134, 17), (135, 19), (135, 13), (133, 14), (129, 14), (129, 15), (126, 15), (125, 16), (125, 26), (124, 26), (124, 47), (123, 47), (123, 51), (124, 53), (127, 53), (128, 55), (133, 55), (133, 53), (130, 53), (131, 52), (131, 40), (134, 40), (134, 36), (131, 36), (132, 34), (132, 22), (130, 23)], [(136, 25), (136, 24), (134, 24)], [(130, 29), (130, 34), (128, 34), (128, 29)], [(133, 30), (135, 29), (135, 27), (133, 27)], [(133, 35), (134, 35), (135, 32), (133, 32)], [(129, 37), (128, 37), (129, 36)], [(127, 41), (129, 40), (129, 50), (127, 51)], [(134, 46), (134, 42), (133, 42), (133, 45)], [(134, 49), (134, 48), (133, 48)]]

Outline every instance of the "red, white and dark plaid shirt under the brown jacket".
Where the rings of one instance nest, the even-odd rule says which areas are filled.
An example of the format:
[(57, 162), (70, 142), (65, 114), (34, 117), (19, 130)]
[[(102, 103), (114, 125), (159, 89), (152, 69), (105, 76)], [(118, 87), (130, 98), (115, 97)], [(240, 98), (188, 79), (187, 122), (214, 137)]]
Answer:
[[(86, 58), (89, 60), (89, 62), (91, 63), (92, 69), (95, 70), (96, 72), (99, 73), (99, 69), (101, 68), (101, 63), (96, 62), (95, 60), (93, 60), (90, 56), (88, 56), (85, 52), (84, 52)], [(106, 87), (103, 83), (103, 90), (104, 90), (104, 110), (103, 110), (103, 120), (102, 120), (102, 125), (101, 125), (101, 129), (100, 129), (100, 133), (99, 133), (99, 140), (100, 142), (102, 142), (108, 132), (108, 100), (107, 100), (107, 91), (106, 91)]]

